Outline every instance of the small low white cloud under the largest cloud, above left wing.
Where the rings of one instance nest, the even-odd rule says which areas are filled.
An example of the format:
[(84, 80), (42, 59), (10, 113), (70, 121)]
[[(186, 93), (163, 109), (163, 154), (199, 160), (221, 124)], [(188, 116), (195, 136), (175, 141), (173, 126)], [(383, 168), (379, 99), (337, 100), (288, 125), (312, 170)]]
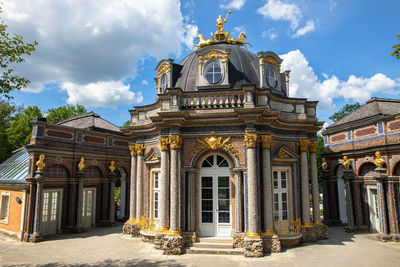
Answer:
[(94, 107), (115, 107), (118, 104), (141, 102), (141, 92), (138, 96), (129, 90), (129, 85), (119, 81), (97, 82), (80, 85), (72, 82), (61, 84), (62, 90), (68, 93), (68, 104), (81, 104)]

